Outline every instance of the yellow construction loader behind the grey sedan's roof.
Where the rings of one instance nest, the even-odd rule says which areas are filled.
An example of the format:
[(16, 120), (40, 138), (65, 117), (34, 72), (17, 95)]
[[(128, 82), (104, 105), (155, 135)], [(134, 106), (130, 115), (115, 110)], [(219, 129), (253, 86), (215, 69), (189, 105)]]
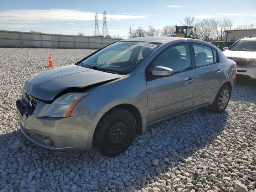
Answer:
[[(193, 36), (192, 26), (175, 26), (175, 27), (176, 27), (176, 32), (174, 34), (168, 34), (166, 36), (198, 39), (198, 36)], [(194, 28), (194, 32), (196, 32), (196, 28)]]

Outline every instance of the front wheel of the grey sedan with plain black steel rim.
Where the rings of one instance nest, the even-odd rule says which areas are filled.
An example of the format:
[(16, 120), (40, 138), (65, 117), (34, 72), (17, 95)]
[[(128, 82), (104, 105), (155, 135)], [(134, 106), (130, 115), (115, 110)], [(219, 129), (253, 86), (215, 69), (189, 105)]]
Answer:
[(126, 151), (136, 135), (136, 120), (124, 108), (108, 112), (94, 132), (94, 144), (105, 156), (116, 156)]

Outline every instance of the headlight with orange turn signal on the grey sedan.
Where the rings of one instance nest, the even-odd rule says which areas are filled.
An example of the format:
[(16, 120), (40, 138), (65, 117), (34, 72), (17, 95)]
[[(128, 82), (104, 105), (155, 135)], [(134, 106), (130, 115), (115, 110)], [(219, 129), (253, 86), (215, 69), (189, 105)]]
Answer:
[(67, 93), (56, 100), (50, 105), (46, 111), (45, 116), (47, 117), (69, 117), (76, 104), (84, 97), (88, 96), (89, 93), (78, 92), (78, 93)]

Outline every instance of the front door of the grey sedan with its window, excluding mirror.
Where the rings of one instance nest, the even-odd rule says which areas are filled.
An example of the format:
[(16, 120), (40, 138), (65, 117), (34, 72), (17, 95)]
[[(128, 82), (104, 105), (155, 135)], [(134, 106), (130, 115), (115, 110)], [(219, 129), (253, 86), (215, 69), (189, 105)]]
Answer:
[[(191, 69), (189, 44), (176, 44), (162, 51), (150, 64), (171, 68), (170, 77), (147, 79), (147, 123), (192, 108), (196, 88), (196, 71)], [(147, 69), (148, 70), (148, 69)]]

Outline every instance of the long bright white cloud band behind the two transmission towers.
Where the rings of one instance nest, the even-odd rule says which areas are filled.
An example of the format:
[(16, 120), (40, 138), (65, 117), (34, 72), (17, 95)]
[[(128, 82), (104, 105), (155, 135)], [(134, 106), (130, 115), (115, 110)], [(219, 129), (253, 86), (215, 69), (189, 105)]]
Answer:
[[(121, 14), (107, 14), (107, 17), (113, 20), (147, 18), (147, 16)], [(95, 13), (84, 12), (77, 9), (22, 9), (0, 11), (0, 21), (93, 21), (94, 19)], [(102, 14), (98, 14), (98, 19), (102, 19)]]

